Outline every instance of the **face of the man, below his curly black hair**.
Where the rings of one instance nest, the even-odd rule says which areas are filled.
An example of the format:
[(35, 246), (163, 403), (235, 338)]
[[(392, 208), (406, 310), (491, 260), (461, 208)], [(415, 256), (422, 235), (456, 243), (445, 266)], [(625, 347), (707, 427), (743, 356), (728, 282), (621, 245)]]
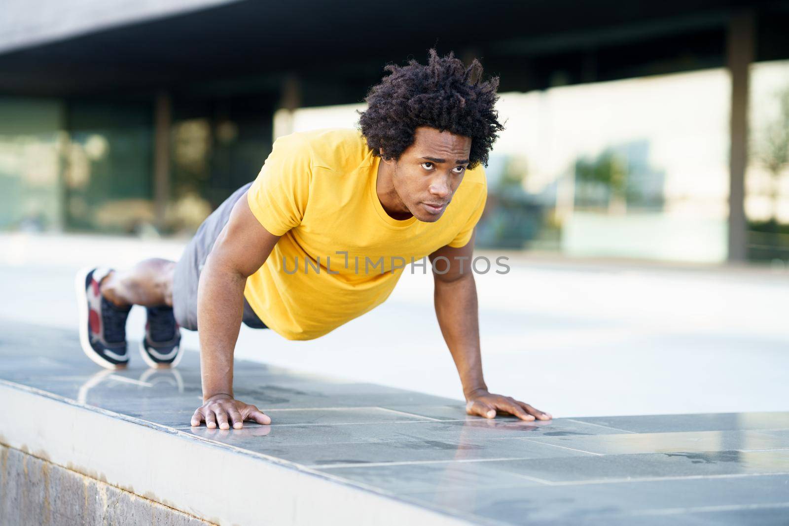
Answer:
[(424, 222), (436, 222), (447, 210), (469, 165), (471, 138), (417, 128), (413, 144), (394, 164), (392, 181), (404, 210)]

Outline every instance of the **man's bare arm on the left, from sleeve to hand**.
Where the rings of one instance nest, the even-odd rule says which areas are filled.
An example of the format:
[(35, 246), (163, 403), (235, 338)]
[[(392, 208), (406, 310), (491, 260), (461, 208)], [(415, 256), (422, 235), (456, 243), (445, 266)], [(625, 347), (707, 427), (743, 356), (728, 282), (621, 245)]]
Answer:
[(233, 354), (241, 329), (246, 279), (265, 263), (279, 236), (269, 233), (252, 215), (246, 194), (237, 201), (219, 233), (200, 274), (197, 289), (197, 326), (204, 404), (192, 425), (242, 427), (244, 420), (271, 423), (254, 405), (233, 397)]

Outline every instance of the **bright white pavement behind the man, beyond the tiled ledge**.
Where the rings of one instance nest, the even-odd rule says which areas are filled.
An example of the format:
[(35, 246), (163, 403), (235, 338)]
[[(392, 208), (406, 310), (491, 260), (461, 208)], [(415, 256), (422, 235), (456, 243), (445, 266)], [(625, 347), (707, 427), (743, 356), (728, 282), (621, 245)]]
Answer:
[[(0, 317), (74, 327), (73, 272), (177, 258), (181, 241), (0, 235)], [(488, 253), (488, 256), (499, 256)], [(491, 390), (555, 416), (787, 410), (789, 272), (510, 260), (477, 276)], [(142, 334), (144, 311), (129, 319)], [(2, 335), (0, 335), (2, 338)], [(196, 349), (196, 334), (185, 331)], [(386, 304), (315, 341), (242, 330), (237, 356), (461, 398), (432, 311), (406, 274)], [(133, 355), (133, 367), (143, 367)]]

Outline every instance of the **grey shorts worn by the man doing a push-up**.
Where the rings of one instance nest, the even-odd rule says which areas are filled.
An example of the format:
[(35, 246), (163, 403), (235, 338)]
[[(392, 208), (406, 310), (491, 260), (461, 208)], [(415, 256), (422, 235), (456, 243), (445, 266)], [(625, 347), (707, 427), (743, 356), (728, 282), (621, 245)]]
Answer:
[[(241, 199), (252, 183), (238, 188), (233, 195), (219, 205), (211, 215), (206, 218), (197, 233), (186, 245), (181, 259), (175, 265), (173, 278), (173, 312), (175, 321), (185, 329), (197, 330), (197, 285), (200, 283), (200, 271), (203, 270), (205, 260), (214, 248), (214, 242), (222, 232), (222, 228), (230, 218), (230, 212), (237, 200)], [(267, 329), (265, 323), (260, 321), (255, 311), (244, 299), (245, 325), (253, 329)]]

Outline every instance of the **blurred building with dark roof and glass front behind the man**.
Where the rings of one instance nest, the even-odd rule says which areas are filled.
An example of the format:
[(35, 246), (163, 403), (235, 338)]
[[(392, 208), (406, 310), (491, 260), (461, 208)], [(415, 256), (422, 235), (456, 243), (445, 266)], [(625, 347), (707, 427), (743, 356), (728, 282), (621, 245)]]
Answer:
[(192, 232), (429, 47), (501, 77), (488, 248), (789, 261), (789, 2), (5, 0), (0, 229)]

